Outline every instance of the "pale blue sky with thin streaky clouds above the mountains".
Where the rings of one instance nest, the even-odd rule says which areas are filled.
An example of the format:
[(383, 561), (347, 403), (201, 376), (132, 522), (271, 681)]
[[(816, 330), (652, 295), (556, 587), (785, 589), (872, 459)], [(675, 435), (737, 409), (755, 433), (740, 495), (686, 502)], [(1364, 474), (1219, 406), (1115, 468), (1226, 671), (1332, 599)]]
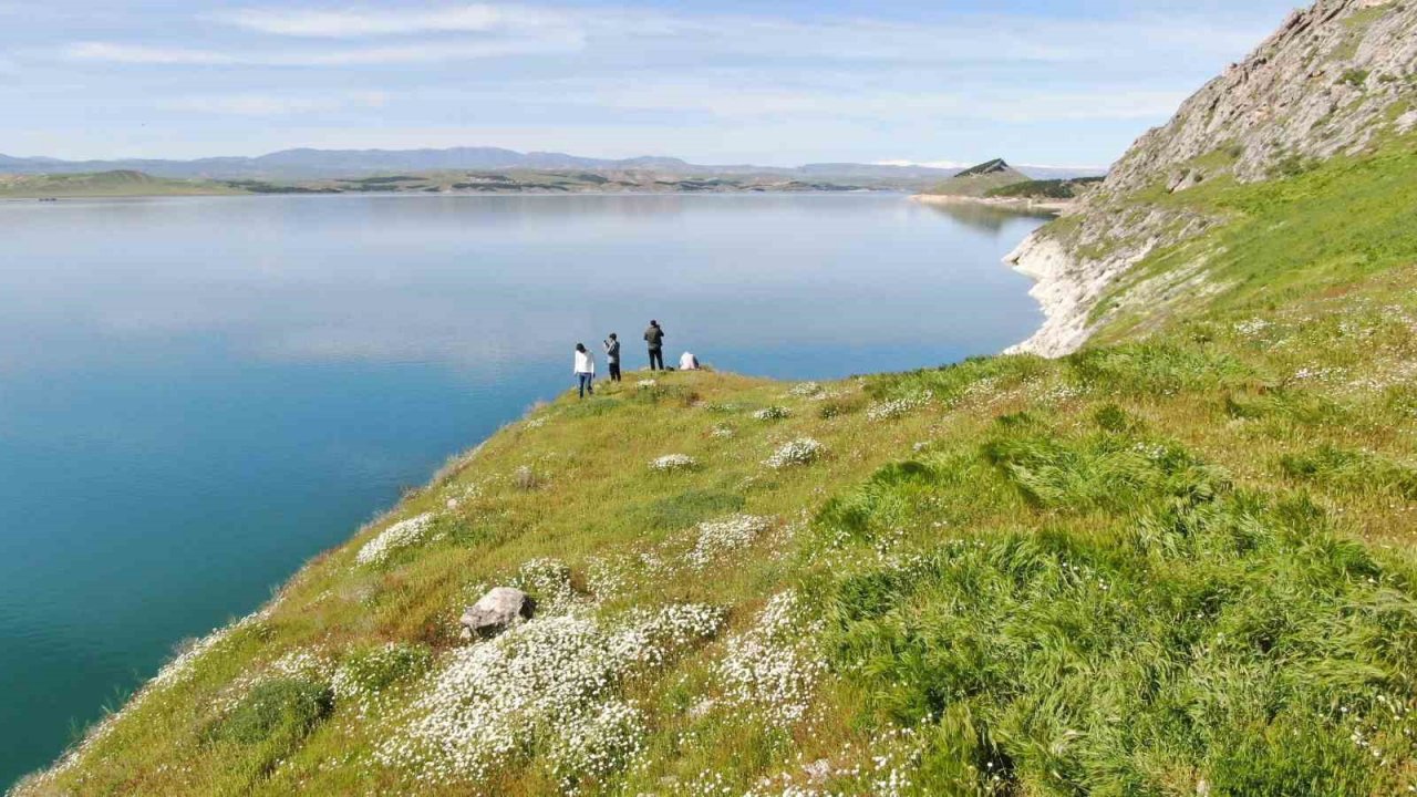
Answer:
[(0, 0), (0, 153), (1105, 166), (1295, 0)]

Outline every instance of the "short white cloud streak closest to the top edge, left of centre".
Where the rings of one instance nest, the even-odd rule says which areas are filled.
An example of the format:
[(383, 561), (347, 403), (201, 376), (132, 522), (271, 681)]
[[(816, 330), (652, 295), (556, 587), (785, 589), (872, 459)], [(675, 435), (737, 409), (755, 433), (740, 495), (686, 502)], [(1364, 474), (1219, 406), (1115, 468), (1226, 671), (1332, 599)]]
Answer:
[(422, 11), (242, 9), (215, 18), (258, 33), (319, 38), (570, 27), (570, 20), (557, 11), (482, 3)]

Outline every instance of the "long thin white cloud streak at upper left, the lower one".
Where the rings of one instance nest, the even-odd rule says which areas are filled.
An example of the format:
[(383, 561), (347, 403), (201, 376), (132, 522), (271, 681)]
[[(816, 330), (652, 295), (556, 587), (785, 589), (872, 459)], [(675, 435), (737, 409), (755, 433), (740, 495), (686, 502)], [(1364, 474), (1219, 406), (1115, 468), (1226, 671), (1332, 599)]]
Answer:
[(188, 67), (368, 67), (385, 64), (429, 64), (580, 50), (577, 37), (500, 38), (444, 44), (408, 44), (343, 50), (198, 50), (147, 47), (108, 41), (81, 41), (64, 48), (78, 61)]

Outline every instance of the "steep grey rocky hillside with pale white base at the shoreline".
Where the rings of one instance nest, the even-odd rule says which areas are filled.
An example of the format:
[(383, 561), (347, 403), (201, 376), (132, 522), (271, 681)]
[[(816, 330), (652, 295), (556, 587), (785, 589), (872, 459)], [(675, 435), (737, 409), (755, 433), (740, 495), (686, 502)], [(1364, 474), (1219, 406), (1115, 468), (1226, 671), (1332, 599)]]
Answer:
[(1158, 247), (1224, 221), (1142, 191), (1257, 182), (1417, 129), (1417, 3), (1319, 0), (1145, 133), (1060, 223), (1009, 255), (1047, 322), (1013, 350), (1061, 356), (1105, 323), (1097, 301)]

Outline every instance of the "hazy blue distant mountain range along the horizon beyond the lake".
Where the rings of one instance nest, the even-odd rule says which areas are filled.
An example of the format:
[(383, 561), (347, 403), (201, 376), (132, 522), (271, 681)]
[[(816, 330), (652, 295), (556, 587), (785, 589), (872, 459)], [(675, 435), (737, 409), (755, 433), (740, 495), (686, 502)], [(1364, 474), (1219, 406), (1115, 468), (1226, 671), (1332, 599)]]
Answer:
[[(286, 149), (258, 157), (201, 157), (197, 160), (125, 159), (58, 160), (54, 157), (11, 157), (0, 155), (0, 173), (71, 174), (81, 172), (135, 170), (176, 179), (322, 179), (394, 172), (486, 170), (486, 169), (585, 169), (643, 170), (674, 174), (782, 174), (789, 177), (849, 177), (900, 183), (938, 182), (956, 173), (915, 165), (809, 163), (796, 167), (728, 165), (707, 166), (677, 157), (629, 157), (609, 160), (560, 152), (516, 152), (490, 146), (452, 149)], [(1034, 179), (1080, 177), (1097, 170), (1020, 167)]]

